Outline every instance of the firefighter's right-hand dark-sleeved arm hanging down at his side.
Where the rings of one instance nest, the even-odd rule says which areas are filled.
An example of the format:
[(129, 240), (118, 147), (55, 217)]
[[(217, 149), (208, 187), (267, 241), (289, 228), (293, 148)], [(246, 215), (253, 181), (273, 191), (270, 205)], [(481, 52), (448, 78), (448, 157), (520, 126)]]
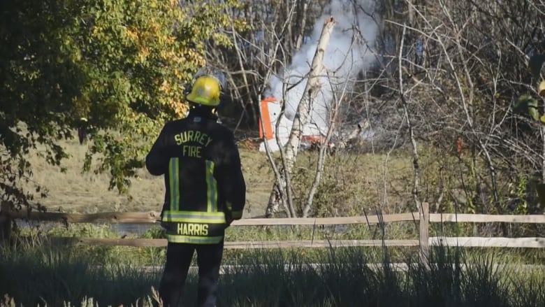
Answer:
[(246, 183), (240, 165), (240, 155), (234, 138), (225, 144), (224, 165), (221, 168), (221, 189), (226, 199), (226, 214), (230, 220), (240, 220), (246, 204)]

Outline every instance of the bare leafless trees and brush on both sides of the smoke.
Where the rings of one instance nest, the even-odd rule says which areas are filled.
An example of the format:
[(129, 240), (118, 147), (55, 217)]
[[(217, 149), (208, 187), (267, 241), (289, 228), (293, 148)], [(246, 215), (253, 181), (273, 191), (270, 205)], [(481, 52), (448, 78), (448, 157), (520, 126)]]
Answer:
[[(337, 142), (347, 141), (342, 136), (363, 121), (371, 145), (351, 151), (414, 147), (409, 159), (418, 161), (420, 152), (424, 160), (411, 163), (421, 173), (412, 192), (434, 210), (542, 212), (535, 187), (544, 173), (543, 127), (513, 106), (521, 93), (543, 106), (528, 61), (543, 45), (544, 3), (275, 1), (278, 6), (266, 7), (273, 14), (260, 15), (266, 16), (260, 31), (233, 36), (238, 48), (231, 58), (243, 59), (231, 62), (233, 80), (239, 80), (234, 83), (240, 85), (235, 97), (246, 97), (242, 103), (254, 107), (250, 116), (259, 94), (267, 92), (266, 72), (281, 72), (300, 48), (290, 29), (305, 24), (303, 38), (309, 38), (328, 3), (374, 3), (381, 30), (373, 46), (375, 64), (346, 80), (354, 86), (340, 104), (338, 121), (344, 124), (333, 136)], [(282, 22), (275, 19), (279, 15)], [(384, 199), (375, 198), (376, 204), (384, 205)]]

